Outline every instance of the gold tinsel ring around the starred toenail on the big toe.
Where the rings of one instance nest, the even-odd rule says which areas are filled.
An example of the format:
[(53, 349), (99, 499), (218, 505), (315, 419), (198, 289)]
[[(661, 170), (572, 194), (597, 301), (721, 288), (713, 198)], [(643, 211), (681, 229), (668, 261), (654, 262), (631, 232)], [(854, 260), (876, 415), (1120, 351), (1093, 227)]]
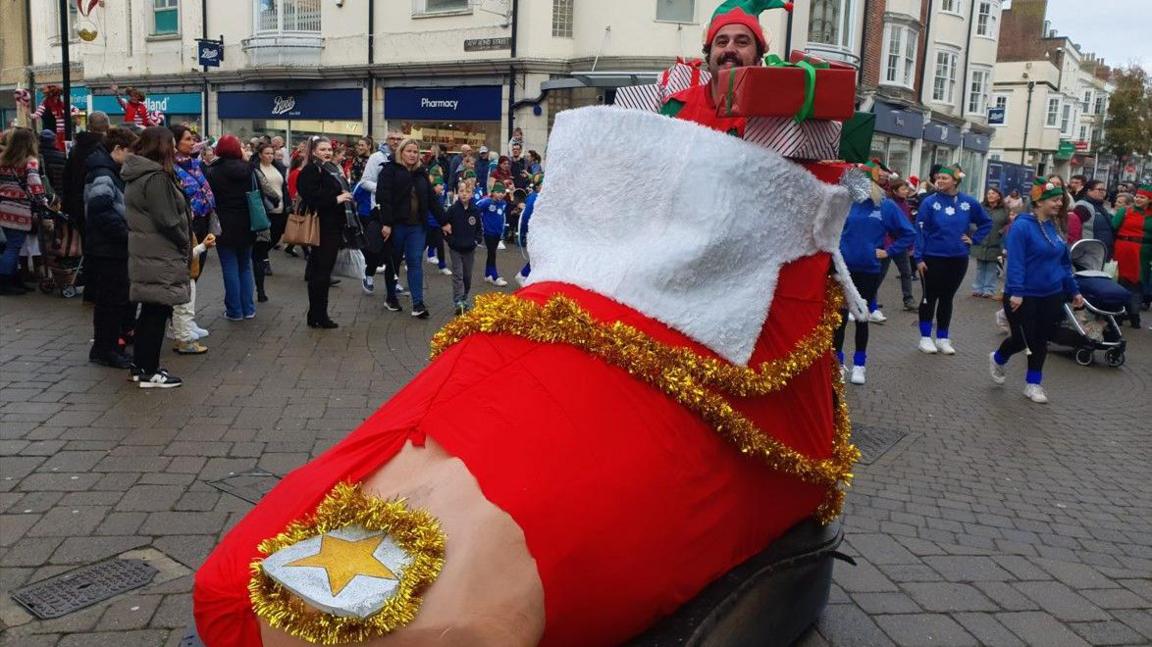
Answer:
[[(399, 573), (396, 589), (384, 608), (367, 618), (331, 616), (294, 595), (265, 574), (264, 557), (318, 534), (350, 525), (384, 531), (409, 556)], [(260, 542), (264, 557), (250, 565), (248, 594), (252, 610), (273, 627), (316, 645), (363, 642), (391, 633), (412, 622), (420, 607), (420, 593), (435, 581), (444, 568), (445, 535), (440, 523), (424, 510), (408, 508), (403, 500), (385, 501), (367, 496), (358, 486), (340, 484), (316, 509), (310, 520), (294, 522), (274, 538)]]

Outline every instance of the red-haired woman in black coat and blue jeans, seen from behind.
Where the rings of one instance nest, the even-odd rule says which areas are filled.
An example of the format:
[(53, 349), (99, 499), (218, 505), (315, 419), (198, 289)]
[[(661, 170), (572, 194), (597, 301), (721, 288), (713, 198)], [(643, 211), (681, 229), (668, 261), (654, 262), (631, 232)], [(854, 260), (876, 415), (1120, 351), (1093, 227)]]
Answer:
[(209, 166), (209, 185), (217, 199), (220, 236), (217, 253), (223, 273), (225, 318), (241, 321), (256, 317), (256, 283), (252, 280), (252, 233), (248, 213), (248, 192), (252, 190), (252, 169), (244, 161), (240, 139), (225, 135), (217, 143), (220, 158)]

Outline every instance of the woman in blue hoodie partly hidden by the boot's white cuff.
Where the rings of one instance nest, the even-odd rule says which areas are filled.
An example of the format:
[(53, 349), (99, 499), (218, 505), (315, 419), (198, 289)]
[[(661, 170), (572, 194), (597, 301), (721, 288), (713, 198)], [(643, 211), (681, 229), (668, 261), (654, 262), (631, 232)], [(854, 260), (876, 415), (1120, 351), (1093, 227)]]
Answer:
[[(885, 235), (892, 243), (885, 248)], [(880, 261), (908, 252), (916, 239), (904, 212), (895, 201), (880, 198), (877, 204), (872, 198), (852, 204), (840, 235), (840, 253), (844, 257), (852, 283), (861, 296), (872, 303), (880, 287)], [(848, 311), (841, 312), (840, 327), (836, 328), (836, 359), (841, 372), (844, 371), (844, 328), (848, 326)], [(856, 353), (852, 356), (851, 382), (864, 383), (865, 365), (867, 363), (867, 320), (856, 320)]]

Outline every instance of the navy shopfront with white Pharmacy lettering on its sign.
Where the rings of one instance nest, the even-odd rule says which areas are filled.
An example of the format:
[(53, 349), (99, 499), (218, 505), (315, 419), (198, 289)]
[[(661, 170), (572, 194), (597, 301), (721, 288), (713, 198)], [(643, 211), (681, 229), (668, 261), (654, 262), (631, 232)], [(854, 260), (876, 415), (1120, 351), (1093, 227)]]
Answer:
[(387, 87), (384, 117), (389, 129), (419, 139), (424, 147), (441, 144), (450, 151), (468, 144), (472, 149), (501, 150), (503, 87)]

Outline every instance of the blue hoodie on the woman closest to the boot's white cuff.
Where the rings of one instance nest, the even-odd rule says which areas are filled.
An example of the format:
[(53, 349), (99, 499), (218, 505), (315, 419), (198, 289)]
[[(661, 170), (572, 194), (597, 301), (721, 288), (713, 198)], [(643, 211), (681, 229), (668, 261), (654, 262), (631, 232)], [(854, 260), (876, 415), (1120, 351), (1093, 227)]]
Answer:
[(916, 239), (912, 223), (908, 222), (896, 203), (888, 198), (880, 200), (880, 206), (870, 199), (854, 203), (844, 221), (844, 231), (840, 235), (840, 253), (848, 269), (879, 274), (880, 259), (876, 258), (876, 250), (884, 246), (885, 234), (893, 238), (887, 249), (889, 257), (904, 253)]

